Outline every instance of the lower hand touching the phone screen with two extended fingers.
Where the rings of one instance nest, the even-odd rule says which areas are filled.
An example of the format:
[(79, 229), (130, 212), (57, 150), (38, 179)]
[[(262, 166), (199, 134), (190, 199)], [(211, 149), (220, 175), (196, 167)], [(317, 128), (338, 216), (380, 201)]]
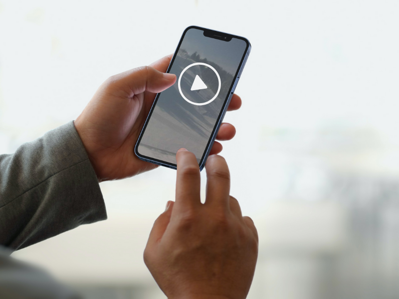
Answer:
[(202, 204), (196, 156), (180, 149), (176, 159), (176, 201), (168, 202), (155, 221), (144, 261), (170, 299), (244, 299), (255, 271), (258, 235), (229, 195), (227, 163), (219, 155), (207, 160)]

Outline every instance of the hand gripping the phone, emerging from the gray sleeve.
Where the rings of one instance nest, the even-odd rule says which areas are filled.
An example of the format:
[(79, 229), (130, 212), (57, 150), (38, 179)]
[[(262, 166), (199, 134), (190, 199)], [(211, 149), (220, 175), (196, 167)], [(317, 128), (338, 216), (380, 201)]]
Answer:
[[(139, 159), (134, 153), (145, 120), (157, 92), (172, 86), (177, 78), (163, 74), (172, 55), (149, 67), (136, 68), (107, 79), (75, 120), (76, 130), (87, 151), (99, 181), (121, 179), (158, 167)], [(241, 106), (233, 96), (229, 110)], [(219, 140), (233, 138), (235, 129), (223, 124)], [(215, 143), (213, 153), (221, 151)]]

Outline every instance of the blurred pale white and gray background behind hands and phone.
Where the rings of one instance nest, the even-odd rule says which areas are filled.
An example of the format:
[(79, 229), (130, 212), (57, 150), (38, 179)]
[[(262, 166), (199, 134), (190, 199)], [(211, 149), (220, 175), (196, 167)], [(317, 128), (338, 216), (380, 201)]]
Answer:
[[(398, 298), (398, 15), (397, 0), (0, 0), (0, 152), (74, 120), (189, 25), (245, 36), (222, 155), (259, 231), (248, 298)], [(13, 256), (89, 299), (165, 298), (142, 254), (175, 179), (160, 167), (101, 183), (107, 221)]]

